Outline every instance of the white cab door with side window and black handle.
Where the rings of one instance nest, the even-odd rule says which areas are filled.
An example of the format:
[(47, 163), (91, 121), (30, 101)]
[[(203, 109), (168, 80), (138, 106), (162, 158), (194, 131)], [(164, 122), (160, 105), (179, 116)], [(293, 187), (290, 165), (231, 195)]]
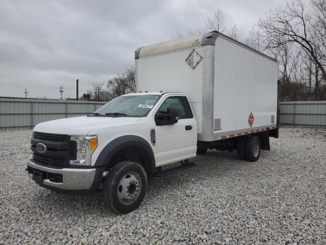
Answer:
[[(158, 126), (155, 122), (155, 159), (156, 166), (193, 157), (194, 150), (194, 116), (185, 107), (187, 99), (185, 96), (170, 96), (161, 104), (155, 112), (168, 114), (171, 109), (177, 111), (178, 121), (172, 125)], [(191, 109), (190, 109), (191, 110)], [(154, 120), (155, 120), (154, 116)]]

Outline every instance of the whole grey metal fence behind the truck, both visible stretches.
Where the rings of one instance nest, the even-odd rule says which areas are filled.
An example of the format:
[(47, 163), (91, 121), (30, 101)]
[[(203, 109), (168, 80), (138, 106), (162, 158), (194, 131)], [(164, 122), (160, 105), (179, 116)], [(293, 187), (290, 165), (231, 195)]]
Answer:
[[(42, 121), (87, 115), (104, 104), (0, 98), (0, 129), (31, 128)], [(281, 102), (280, 124), (326, 127), (326, 101)]]

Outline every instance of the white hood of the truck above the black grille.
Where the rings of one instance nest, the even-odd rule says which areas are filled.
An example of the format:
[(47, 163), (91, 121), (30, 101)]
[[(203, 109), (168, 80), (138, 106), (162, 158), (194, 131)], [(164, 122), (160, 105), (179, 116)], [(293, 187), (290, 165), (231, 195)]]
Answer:
[(135, 124), (140, 117), (78, 116), (37, 124), (33, 131), (50, 134), (87, 135), (96, 128)]

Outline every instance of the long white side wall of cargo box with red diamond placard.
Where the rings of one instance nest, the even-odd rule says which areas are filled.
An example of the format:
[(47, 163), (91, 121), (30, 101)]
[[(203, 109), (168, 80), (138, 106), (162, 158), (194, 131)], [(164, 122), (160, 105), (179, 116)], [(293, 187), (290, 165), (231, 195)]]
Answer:
[[(221, 119), (221, 127), (214, 134), (276, 125), (277, 79), (276, 62), (216, 39), (214, 119)], [(251, 113), (252, 126), (248, 122)]]

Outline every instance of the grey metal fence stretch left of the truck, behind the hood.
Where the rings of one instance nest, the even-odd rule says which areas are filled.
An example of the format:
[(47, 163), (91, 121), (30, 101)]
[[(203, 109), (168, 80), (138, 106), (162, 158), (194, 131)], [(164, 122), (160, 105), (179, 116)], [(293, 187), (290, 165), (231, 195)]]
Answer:
[(0, 98), (0, 129), (32, 128), (39, 122), (92, 113), (105, 102)]

